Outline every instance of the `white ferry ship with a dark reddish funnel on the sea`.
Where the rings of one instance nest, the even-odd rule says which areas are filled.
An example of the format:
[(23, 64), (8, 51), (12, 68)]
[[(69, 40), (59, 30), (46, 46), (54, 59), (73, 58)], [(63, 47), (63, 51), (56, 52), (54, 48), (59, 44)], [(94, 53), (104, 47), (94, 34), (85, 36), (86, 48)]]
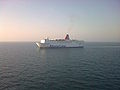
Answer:
[(84, 41), (71, 40), (67, 34), (64, 39), (50, 40), (49, 38), (36, 42), (39, 48), (83, 48)]

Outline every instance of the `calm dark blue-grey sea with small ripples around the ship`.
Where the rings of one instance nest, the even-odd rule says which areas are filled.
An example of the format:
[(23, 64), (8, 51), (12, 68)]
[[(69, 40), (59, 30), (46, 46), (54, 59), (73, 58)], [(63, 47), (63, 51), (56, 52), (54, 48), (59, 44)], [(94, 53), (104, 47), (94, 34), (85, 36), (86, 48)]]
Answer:
[(0, 90), (120, 90), (120, 44), (0, 43)]

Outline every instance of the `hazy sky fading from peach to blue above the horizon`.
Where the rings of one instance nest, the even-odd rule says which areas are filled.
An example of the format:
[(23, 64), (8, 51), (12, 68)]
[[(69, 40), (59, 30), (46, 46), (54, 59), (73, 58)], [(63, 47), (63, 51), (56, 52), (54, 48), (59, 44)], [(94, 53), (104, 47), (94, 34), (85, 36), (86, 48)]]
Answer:
[(0, 0), (0, 41), (120, 42), (120, 0)]

